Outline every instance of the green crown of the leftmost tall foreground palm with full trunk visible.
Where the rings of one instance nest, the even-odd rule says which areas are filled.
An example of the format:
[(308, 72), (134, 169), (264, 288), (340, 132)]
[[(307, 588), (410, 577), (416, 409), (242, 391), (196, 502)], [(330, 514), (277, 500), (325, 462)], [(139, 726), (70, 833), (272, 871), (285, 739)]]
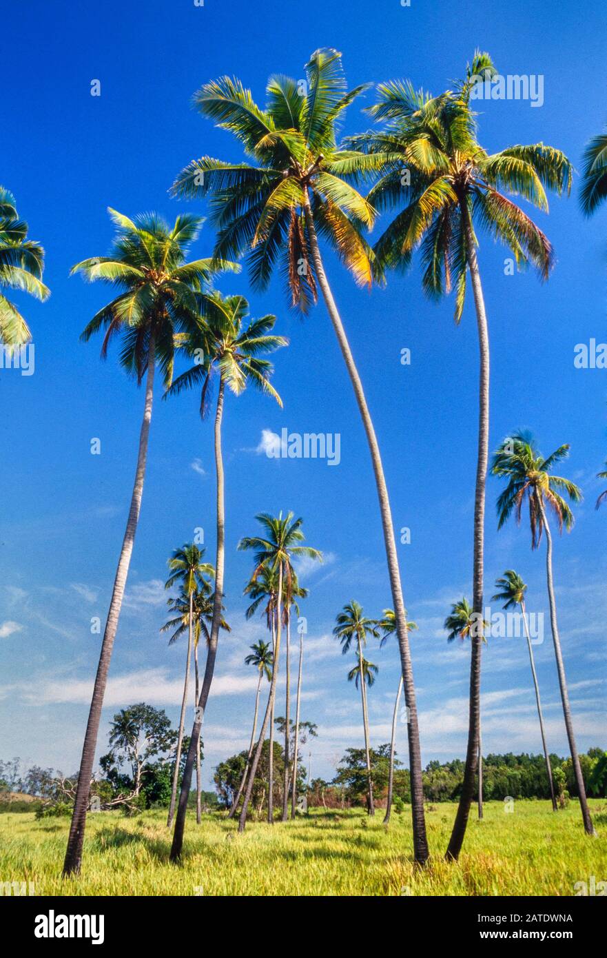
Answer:
[(86, 341), (105, 329), (101, 347), (105, 357), (110, 340), (122, 332), (121, 362), (141, 381), (153, 334), (154, 355), (169, 385), (176, 334), (191, 328), (192, 317), (199, 310), (196, 294), (208, 294), (217, 273), (239, 267), (218, 259), (186, 262), (190, 244), (202, 225), (200, 217), (180, 216), (169, 227), (155, 213), (129, 219), (116, 210), (108, 212), (117, 227), (109, 256), (83, 260), (72, 273), (82, 273), (91, 282), (101, 280), (122, 291), (93, 316), (81, 338)]

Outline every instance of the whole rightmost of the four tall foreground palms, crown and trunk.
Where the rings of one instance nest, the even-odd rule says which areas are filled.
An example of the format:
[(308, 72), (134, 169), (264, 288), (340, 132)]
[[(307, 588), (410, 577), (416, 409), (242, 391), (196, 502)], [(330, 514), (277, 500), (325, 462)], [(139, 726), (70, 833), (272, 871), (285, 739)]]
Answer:
[[(350, 138), (348, 146), (384, 156), (382, 175), (368, 201), (399, 212), (374, 246), (374, 268), (405, 268), (421, 245), (422, 286), (432, 298), (456, 288), (456, 322), (461, 319), (469, 272), (476, 308), (480, 351), (479, 434), (474, 505), (473, 604), (483, 615), (484, 498), (489, 437), (489, 337), (477, 259), (476, 229), (511, 250), (518, 264), (531, 262), (543, 279), (553, 262), (551, 243), (502, 190), (522, 195), (548, 210), (545, 188), (561, 194), (571, 187), (572, 167), (560, 150), (544, 144), (515, 146), (491, 155), (478, 141), (470, 97), (479, 78), (495, 67), (477, 51), (466, 80), (437, 98), (416, 91), (409, 81), (378, 87), (374, 119), (387, 121), (381, 132)], [(403, 171), (403, 167), (405, 170)], [(409, 175), (403, 175), (406, 172)], [(472, 640), (470, 713), (463, 786), (447, 858), (457, 859), (474, 794), (480, 735), (481, 649), (483, 633)]]

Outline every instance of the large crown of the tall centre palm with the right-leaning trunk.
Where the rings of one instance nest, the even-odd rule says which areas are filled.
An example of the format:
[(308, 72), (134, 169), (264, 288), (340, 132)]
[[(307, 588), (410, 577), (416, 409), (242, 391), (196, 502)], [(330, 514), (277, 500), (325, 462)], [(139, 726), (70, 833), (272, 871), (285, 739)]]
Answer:
[(344, 111), (363, 89), (347, 90), (341, 54), (324, 49), (310, 57), (305, 80), (271, 77), (264, 108), (229, 77), (194, 95), (196, 108), (232, 132), (255, 165), (203, 156), (181, 171), (173, 194), (211, 194), (215, 255), (247, 254), (253, 284), (261, 289), (280, 261), (292, 305), (303, 311), (317, 298), (304, 216), (308, 198), (319, 232), (359, 284), (371, 283), (373, 254), (362, 231), (374, 210), (348, 178), (378, 169), (378, 160), (336, 143)]

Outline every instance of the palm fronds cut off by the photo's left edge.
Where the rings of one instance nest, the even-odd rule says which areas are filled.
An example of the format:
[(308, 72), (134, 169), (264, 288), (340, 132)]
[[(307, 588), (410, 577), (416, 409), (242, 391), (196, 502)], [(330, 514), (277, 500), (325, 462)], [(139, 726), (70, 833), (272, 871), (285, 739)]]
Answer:
[(32, 336), (2, 289), (24, 289), (42, 301), (51, 295), (42, 283), (44, 250), (27, 237), (28, 224), (18, 217), (14, 196), (0, 186), (0, 346), (23, 346)]

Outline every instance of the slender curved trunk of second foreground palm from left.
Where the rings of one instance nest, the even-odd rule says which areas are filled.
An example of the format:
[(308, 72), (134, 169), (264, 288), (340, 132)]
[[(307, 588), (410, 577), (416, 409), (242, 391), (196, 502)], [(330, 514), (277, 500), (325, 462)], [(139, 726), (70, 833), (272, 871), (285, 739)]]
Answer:
[(215, 410), (214, 422), (214, 451), (215, 451), (215, 473), (217, 478), (217, 551), (215, 559), (215, 590), (213, 602), (213, 619), (211, 622), (211, 638), (209, 639), (209, 650), (207, 652), (207, 662), (205, 673), (202, 679), (202, 689), (200, 698), (194, 713), (194, 723), (191, 729), (190, 748), (188, 749), (188, 758), (184, 768), (183, 778), (181, 780), (181, 792), (179, 793), (179, 805), (175, 816), (175, 829), (170, 848), (170, 860), (177, 861), (181, 855), (181, 849), (184, 840), (184, 829), (186, 826), (186, 812), (188, 810), (188, 798), (191, 788), (191, 774), (196, 760), (198, 744), (200, 741), (200, 730), (204, 718), (207, 700), (211, 692), (213, 682), (215, 658), (217, 657), (217, 638), (219, 635), (219, 626), (221, 624), (221, 605), (223, 600), (223, 566), (225, 555), (225, 505), (224, 505), (224, 478), (223, 478), (223, 457), (221, 455), (221, 420), (223, 417), (223, 395), (224, 395), (223, 376), (219, 379), (219, 390), (217, 394), (217, 408)]

